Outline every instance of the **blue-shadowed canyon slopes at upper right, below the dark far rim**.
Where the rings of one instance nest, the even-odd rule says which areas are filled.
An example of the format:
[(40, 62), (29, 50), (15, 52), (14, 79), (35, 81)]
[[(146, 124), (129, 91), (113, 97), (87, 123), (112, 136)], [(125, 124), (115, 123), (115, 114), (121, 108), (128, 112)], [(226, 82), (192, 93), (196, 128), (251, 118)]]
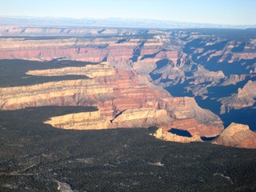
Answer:
[[(202, 36), (202, 34), (205, 34)], [(243, 36), (246, 34), (248, 38)], [(186, 36), (188, 44), (186, 48), (190, 48), (190, 53), (197, 56), (197, 60), (204, 58), (210, 61), (212, 58), (218, 58), (217, 62), (227, 61), (237, 62), (242, 59), (255, 58), (255, 40), (254, 31), (250, 30), (212, 30), (212, 31), (198, 31), (198, 33), (190, 33), (189, 31), (178, 32), (176, 37)], [(253, 38), (249, 38), (249, 36)], [(216, 38), (218, 37), (218, 38)]]

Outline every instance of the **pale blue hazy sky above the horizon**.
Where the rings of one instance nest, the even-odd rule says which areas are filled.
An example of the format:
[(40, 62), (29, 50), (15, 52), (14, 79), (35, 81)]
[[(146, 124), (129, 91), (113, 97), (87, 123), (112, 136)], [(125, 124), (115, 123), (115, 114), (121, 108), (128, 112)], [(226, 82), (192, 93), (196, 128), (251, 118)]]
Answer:
[(0, 0), (0, 16), (256, 24), (256, 0)]

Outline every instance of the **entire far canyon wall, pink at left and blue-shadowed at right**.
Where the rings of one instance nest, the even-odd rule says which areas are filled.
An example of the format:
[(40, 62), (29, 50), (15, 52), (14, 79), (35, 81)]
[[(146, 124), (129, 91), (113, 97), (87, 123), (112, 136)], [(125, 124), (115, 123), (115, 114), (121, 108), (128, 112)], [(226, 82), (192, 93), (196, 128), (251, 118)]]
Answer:
[[(235, 84), (256, 71), (254, 37), (236, 39), (228, 31), (146, 30), (141, 34), (142, 30), (134, 29), (17, 26), (2, 26), (0, 31), (6, 35), (0, 38), (0, 58), (106, 61), (152, 78), (158, 86), (189, 83), (186, 92), (202, 98), (209, 97), (208, 87), (232, 83), (222, 82), (228, 75)], [(11, 34), (15, 38), (8, 38)], [(236, 73), (240, 80), (234, 80)]]

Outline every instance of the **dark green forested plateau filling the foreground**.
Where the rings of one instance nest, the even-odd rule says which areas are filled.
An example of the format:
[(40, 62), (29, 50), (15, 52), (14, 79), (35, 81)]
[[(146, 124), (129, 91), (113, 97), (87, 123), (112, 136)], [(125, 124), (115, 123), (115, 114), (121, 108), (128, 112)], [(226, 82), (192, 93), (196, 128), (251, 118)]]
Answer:
[[(0, 111), (0, 190), (255, 191), (256, 150), (165, 142), (148, 129), (60, 130), (55, 115), (97, 110), (44, 106)], [(57, 182), (58, 181), (58, 182)]]

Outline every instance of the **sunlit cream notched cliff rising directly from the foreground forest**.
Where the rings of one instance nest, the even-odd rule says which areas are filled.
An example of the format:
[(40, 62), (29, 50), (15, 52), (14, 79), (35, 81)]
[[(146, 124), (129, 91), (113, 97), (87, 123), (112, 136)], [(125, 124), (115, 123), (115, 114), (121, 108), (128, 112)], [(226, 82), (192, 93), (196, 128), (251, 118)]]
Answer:
[(108, 128), (145, 128), (168, 125), (173, 121), (166, 110), (142, 108), (126, 110), (113, 120), (109, 120), (99, 110), (78, 114), (66, 114), (52, 117), (44, 122), (57, 128), (74, 130), (101, 130)]

